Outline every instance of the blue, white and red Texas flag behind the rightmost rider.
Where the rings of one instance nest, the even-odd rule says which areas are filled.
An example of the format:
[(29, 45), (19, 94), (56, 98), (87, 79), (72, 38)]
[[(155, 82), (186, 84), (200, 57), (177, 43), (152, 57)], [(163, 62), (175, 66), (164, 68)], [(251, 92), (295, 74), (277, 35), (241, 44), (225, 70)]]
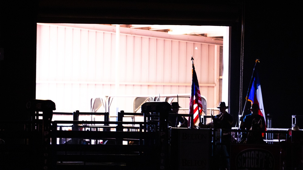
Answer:
[(259, 105), (259, 115), (264, 117), (265, 120), (265, 130), (266, 130), (266, 117), (265, 117), (265, 111), (263, 106), (263, 99), (262, 99), (262, 92), (261, 92), (261, 85), (259, 80), (258, 71), (254, 75), (254, 81), (251, 85), (251, 90), (249, 92), (249, 96), (247, 97), (247, 100), (253, 103), (257, 103)]

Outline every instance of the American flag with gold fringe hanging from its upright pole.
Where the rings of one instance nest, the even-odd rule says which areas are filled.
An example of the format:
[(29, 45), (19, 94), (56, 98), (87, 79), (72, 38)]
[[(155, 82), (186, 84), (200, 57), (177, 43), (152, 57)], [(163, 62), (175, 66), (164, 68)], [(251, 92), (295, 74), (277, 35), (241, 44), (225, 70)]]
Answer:
[[(193, 62), (193, 80), (191, 83), (191, 96), (190, 96), (190, 103), (189, 103), (189, 114), (194, 115), (194, 124), (197, 123), (199, 116), (202, 113), (202, 101), (201, 101), (201, 95), (200, 95), (200, 88), (198, 83), (197, 74), (195, 71), (194, 66), (194, 59), (191, 58)], [(190, 127), (191, 122), (190, 119), (188, 121), (188, 126)]]

